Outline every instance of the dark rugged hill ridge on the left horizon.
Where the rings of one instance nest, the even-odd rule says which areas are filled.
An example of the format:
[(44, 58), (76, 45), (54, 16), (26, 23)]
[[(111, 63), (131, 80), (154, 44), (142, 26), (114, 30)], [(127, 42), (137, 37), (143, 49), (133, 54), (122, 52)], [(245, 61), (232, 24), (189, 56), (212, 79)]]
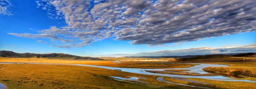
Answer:
[(0, 51), (0, 57), (8, 58), (53, 58), (53, 59), (74, 59), (74, 60), (103, 60), (100, 58), (80, 57), (64, 53), (35, 54), (35, 53), (15, 53), (13, 51)]

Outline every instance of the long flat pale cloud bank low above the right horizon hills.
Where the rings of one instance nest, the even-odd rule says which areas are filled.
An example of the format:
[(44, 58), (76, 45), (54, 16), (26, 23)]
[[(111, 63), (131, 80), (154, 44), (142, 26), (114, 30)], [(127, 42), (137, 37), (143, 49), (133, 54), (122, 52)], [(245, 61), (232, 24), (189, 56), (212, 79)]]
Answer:
[[(220, 51), (223, 50), (224, 51)], [(124, 57), (124, 56), (184, 56), (184, 55), (206, 55), (206, 54), (222, 54), (222, 53), (236, 53), (241, 52), (256, 52), (256, 44), (250, 45), (237, 45), (237, 46), (223, 46), (220, 48), (214, 47), (199, 47), (189, 48), (181, 50), (164, 50), (154, 52), (141, 52), (135, 54), (106, 54), (99, 56), (112, 56), (112, 57)]]

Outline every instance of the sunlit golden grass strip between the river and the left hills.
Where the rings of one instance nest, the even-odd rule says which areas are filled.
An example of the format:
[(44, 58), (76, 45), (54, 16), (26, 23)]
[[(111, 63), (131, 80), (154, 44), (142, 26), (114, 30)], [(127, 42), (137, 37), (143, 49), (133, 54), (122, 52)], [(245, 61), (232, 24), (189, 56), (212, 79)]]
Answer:
[(85, 61), (85, 60), (60, 60), (47, 58), (3, 58), (0, 57), (0, 62), (22, 62), (22, 63), (58, 63), (58, 64), (85, 64), (99, 65), (110, 67), (125, 67), (125, 68), (186, 68), (194, 66), (194, 64), (150, 64), (146, 63), (113, 63), (113, 61)]

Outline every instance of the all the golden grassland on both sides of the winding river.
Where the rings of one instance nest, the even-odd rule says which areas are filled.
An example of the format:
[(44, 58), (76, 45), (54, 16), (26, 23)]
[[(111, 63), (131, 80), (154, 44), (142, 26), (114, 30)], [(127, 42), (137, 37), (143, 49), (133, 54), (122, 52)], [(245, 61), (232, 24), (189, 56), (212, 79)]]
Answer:
[[(194, 65), (188, 64), (153, 64), (151, 62), (128, 62), (113, 63), (113, 61), (83, 61), (83, 60), (59, 60), (59, 59), (44, 59), (44, 58), (0, 58), (0, 62), (24, 62), (24, 63), (62, 63), (62, 64), (86, 64), (100, 65), (111, 67), (128, 67), (128, 68), (184, 68)], [(185, 62), (186, 63), (186, 62)], [(197, 62), (198, 63), (198, 62)], [(209, 67), (205, 71), (215, 74), (228, 74), (223, 70), (234, 71), (250, 71), (251, 74), (256, 74), (256, 62), (199, 62), (209, 64), (224, 64), (229, 67)], [(221, 71), (220, 71), (221, 70)], [(173, 72), (187, 70), (168, 70)], [(242, 72), (239, 72), (242, 73)], [(236, 72), (236, 74), (238, 74)], [(181, 74), (182, 75), (182, 74)], [(145, 77), (148, 79), (139, 79), (140, 81), (148, 82), (149, 84), (140, 82), (123, 82), (115, 80), (110, 76), (129, 78), (129, 77)], [(207, 76), (207, 75), (204, 75)], [(256, 80), (253, 76), (241, 75), (243, 79)], [(102, 68), (75, 66), (75, 65), (43, 65), (43, 64), (0, 64), (0, 82), (7, 85), (8, 89), (187, 89), (194, 87), (173, 85), (159, 82), (156, 80), (158, 76), (135, 74), (129, 72), (121, 72)], [(200, 82), (209, 83), (198, 84), (188, 81), (173, 79), (170, 77), (164, 78), (167, 81), (176, 83), (204, 86), (217, 89), (255, 89), (255, 83), (248, 82), (227, 82), (215, 81), (207, 79), (190, 79)], [(196, 88), (195, 88), (196, 89)]]

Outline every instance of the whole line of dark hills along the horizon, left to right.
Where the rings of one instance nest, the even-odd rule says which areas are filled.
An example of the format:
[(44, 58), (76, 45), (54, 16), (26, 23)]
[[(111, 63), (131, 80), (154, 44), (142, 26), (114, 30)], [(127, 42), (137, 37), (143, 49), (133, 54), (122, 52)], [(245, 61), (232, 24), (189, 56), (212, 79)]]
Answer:
[[(121, 58), (176, 58), (176, 59), (207, 59), (218, 57), (256, 57), (256, 53), (229, 53), (229, 54), (208, 54), (208, 55), (186, 55), (186, 56), (140, 56), (140, 57), (121, 57)], [(49, 59), (71, 59), (71, 60), (103, 60), (104, 57), (92, 58), (81, 57), (64, 53), (35, 54), (35, 53), (15, 53), (13, 51), (0, 51), (0, 57), (8, 58), (49, 58)], [(112, 58), (110, 58), (112, 59)]]

